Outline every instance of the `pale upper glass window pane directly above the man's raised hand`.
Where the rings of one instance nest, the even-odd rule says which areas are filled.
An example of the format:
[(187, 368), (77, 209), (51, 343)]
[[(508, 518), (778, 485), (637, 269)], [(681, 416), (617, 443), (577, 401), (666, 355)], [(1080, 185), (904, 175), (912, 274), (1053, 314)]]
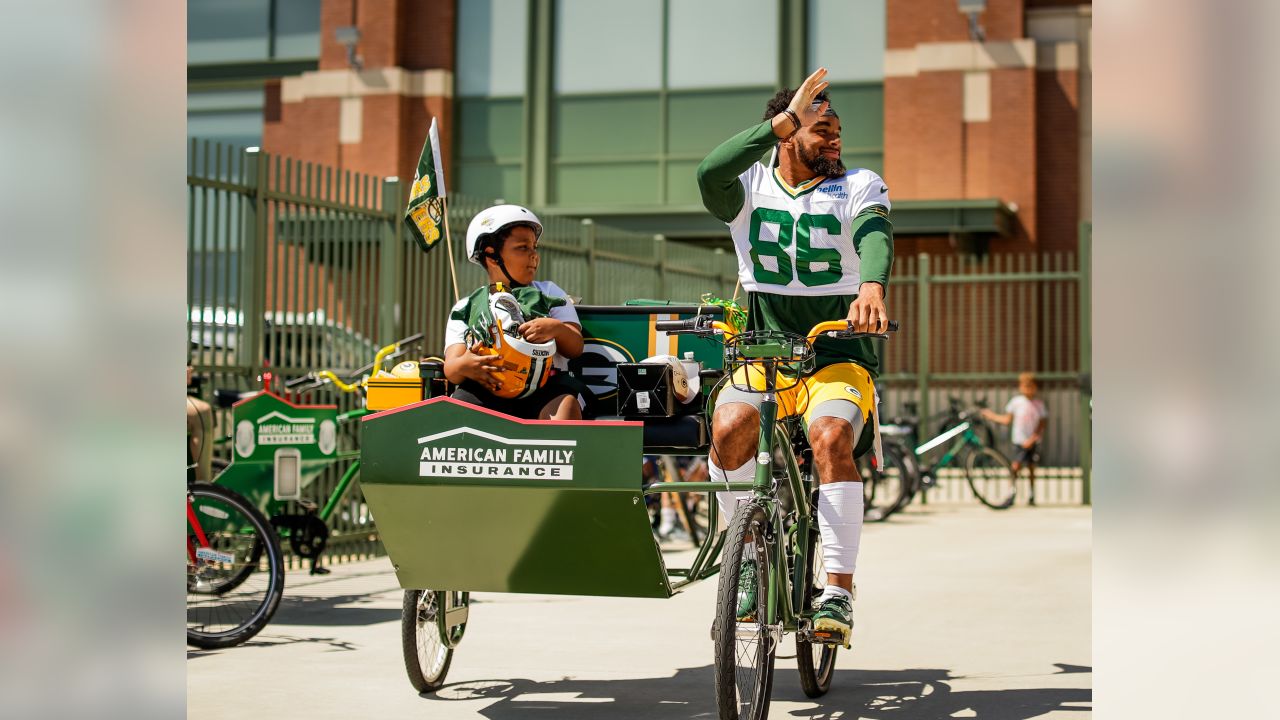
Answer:
[(809, 0), (806, 68), (827, 81), (884, 79), (884, 0)]

